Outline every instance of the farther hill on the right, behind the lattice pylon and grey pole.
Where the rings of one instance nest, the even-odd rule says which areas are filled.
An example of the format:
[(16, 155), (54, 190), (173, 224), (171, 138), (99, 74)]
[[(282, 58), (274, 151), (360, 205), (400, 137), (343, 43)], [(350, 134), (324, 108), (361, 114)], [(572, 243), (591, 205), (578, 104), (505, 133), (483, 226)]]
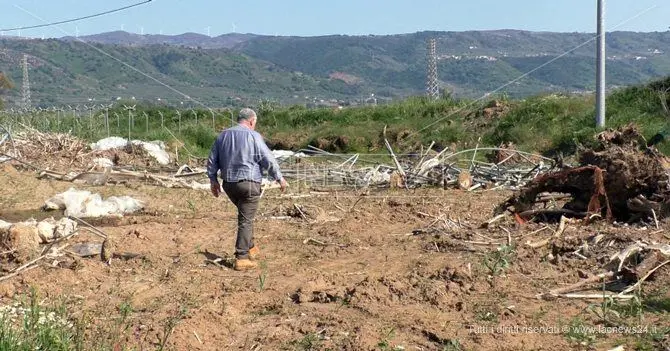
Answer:
[[(481, 95), (551, 60), (505, 92), (525, 96), (543, 90), (587, 91), (595, 86), (595, 40), (585, 33), (502, 30), (258, 37), (240, 43), (235, 50), (316, 76), (353, 75), (387, 87), (390, 95), (394, 89), (423, 89), (428, 38), (437, 38), (440, 80), (460, 95)], [(664, 50), (668, 43), (670, 32), (609, 34), (609, 84), (636, 84), (667, 74), (670, 56)]]

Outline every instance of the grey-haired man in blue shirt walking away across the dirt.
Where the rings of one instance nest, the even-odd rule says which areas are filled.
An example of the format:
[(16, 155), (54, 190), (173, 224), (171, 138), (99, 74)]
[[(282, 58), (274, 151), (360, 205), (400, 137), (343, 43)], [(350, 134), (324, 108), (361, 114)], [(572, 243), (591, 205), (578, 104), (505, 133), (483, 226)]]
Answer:
[(254, 110), (244, 108), (237, 117), (238, 125), (224, 130), (212, 145), (207, 162), (207, 175), (212, 195), (219, 197), (221, 185), (217, 172), (221, 171), (223, 190), (237, 207), (237, 240), (235, 242), (235, 270), (254, 269), (259, 249), (253, 242), (253, 220), (261, 195), (262, 171), (278, 181), (281, 191), (286, 180), (272, 152), (255, 131), (257, 116)]

